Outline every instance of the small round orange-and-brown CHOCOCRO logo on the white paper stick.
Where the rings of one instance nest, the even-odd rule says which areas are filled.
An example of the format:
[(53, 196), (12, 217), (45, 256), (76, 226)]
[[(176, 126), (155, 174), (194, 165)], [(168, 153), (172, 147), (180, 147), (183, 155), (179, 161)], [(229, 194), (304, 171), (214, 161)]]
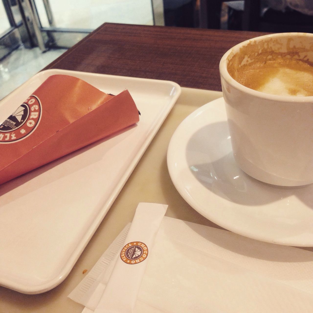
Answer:
[(139, 241), (126, 244), (121, 251), (121, 259), (127, 264), (137, 264), (148, 256), (148, 247)]

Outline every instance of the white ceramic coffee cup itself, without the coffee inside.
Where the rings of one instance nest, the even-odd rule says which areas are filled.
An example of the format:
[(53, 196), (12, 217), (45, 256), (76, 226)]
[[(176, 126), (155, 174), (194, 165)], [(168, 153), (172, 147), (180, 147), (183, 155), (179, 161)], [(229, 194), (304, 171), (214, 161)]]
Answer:
[[(249, 63), (262, 49), (284, 55), (290, 50), (292, 58), (313, 62), (313, 34), (265, 35), (240, 43), (223, 55), (219, 69), (234, 158), (245, 173), (262, 182), (310, 184), (313, 96), (266, 94), (239, 84), (228, 73), (228, 62), (236, 60), (236, 66)], [(295, 53), (297, 49), (299, 53)], [(237, 59), (232, 59), (234, 56)]]

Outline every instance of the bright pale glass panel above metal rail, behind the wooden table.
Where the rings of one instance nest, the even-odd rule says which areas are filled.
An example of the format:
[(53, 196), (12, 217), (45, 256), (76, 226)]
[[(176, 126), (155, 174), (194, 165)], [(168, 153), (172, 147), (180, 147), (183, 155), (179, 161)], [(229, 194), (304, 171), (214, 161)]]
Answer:
[[(105, 22), (153, 25), (151, 0), (50, 0), (54, 26), (95, 29)], [(35, 0), (43, 27), (49, 27), (42, 0)]]

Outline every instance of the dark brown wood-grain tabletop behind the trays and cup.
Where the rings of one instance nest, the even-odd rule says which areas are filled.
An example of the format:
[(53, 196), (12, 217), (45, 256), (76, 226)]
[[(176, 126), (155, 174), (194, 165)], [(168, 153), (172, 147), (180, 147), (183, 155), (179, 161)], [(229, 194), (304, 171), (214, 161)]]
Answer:
[(45, 69), (172, 80), (182, 87), (221, 91), (223, 54), (263, 34), (105, 23)]

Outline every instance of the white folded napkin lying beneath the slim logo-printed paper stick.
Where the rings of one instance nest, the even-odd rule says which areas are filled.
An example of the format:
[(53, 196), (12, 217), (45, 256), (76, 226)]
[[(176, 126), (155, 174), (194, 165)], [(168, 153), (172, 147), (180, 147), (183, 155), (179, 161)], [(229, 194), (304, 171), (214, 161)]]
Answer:
[[(129, 227), (69, 295), (85, 305), (84, 313), (99, 310)], [(303, 313), (313, 308), (313, 253), (306, 250), (164, 217), (147, 261), (134, 312)]]

